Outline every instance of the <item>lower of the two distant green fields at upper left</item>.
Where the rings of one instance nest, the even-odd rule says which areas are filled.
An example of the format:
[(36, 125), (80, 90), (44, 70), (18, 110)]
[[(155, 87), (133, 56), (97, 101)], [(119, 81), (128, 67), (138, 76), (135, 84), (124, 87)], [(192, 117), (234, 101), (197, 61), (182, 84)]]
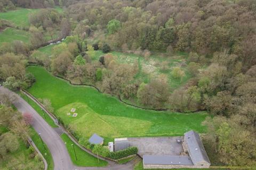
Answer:
[(24, 43), (29, 43), (29, 37), (29, 32), (27, 31), (6, 28), (3, 32), (0, 32), (0, 44), (3, 42), (12, 43), (14, 40), (20, 40)]

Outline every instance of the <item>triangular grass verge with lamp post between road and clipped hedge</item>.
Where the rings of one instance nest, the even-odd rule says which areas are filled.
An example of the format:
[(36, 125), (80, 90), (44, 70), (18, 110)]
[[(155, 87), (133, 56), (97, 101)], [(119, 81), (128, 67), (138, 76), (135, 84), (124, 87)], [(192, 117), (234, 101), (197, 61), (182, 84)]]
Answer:
[[(71, 139), (69, 139), (68, 135), (66, 133), (61, 134), (61, 139), (66, 143), (68, 153), (72, 159), (72, 162), (77, 166), (94, 166), (94, 167), (101, 167), (101, 166), (107, 166), (108, 163), (105, 160), (98, 159), (90, 154), (88, 154), (86, 151), (79, 148)], [(74, 148), (71, 145), (74, 145), (77, 160), (75, 157)]]

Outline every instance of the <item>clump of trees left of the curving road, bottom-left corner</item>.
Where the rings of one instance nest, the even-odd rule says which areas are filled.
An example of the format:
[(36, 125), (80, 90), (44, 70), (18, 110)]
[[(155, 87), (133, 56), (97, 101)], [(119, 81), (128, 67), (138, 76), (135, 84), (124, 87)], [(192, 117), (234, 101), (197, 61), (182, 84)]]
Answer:
[[(33, 117), (29, 113), (21, 115), (20, 112), (13, 109), (15, 95), (0, 94), (0, 162), (3, 169), (43, 169), (42, 159), (36, 154), (33, 147), (28, 143), (30, 129), (33, 123)], [(25, 143), (25, 148), (23, 146)], [(29, 158), (34, 162), (25, 162), (25, 160), (15, 158), (15, 152), (28, 152)], [(20, 155), (22, 157), (22, 155)]]

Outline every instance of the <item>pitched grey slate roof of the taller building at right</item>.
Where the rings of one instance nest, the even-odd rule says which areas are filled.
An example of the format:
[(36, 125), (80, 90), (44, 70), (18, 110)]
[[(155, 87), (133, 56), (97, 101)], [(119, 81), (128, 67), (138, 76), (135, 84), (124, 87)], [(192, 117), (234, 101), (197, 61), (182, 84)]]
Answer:
[(211, 164), (198, 133), (186, 132), (184, 140), (187, 141), (189, 156), (195, 165), (202, 161)]

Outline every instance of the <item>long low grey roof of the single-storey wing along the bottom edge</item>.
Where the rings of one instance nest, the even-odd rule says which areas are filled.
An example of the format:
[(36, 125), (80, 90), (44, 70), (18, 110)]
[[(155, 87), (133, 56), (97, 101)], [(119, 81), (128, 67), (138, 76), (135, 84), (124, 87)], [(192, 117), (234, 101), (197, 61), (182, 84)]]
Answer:
[(159, 155), (144, 155), (143, 164), (194, 165), (189, 156), (159, 156)]

